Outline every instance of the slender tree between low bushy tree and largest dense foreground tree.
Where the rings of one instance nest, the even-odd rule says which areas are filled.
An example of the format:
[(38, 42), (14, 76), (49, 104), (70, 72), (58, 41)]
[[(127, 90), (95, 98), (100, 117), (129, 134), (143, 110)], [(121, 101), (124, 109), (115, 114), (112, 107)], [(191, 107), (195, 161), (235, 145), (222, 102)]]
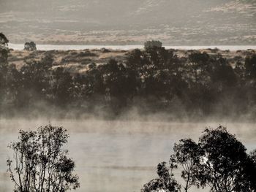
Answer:
[(200, 172), (200, 158), (203, 150), (192, 139), (181, 139), (173, 147), (173, 155), (170, 162), (181, 166), (181, 177), (185, 180), (184, 191), (188, 191), (192, 185), (199, 187), (200, 183), (196, 178)]

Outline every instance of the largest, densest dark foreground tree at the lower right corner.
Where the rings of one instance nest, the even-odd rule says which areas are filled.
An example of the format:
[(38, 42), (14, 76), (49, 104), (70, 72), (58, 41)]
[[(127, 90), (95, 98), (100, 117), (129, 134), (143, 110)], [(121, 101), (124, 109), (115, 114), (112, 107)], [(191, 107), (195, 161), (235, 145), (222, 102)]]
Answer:
[(201, 170), (197, 175), (200, 185), (211, 191), (252, 191), (252, 180), (247, 177), (246, 148), (223, 126), (208, 129), (200, 137), (203, 149)]

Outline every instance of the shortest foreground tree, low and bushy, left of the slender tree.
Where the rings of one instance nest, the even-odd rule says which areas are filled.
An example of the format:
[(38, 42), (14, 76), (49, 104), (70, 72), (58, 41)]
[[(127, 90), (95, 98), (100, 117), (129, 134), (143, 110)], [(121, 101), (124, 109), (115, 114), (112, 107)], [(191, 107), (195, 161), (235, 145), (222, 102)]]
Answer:
[(181, 191), (181, 186), (173, 179), (172, 170), (175, 166), (170, 166), (170, 170), (167, 169), (166, 163), (162, 162), (157, 165), (158, 178), (146, 183), (141, 192), (151, 191), (166, 191), (166, 192), (178, 192)]

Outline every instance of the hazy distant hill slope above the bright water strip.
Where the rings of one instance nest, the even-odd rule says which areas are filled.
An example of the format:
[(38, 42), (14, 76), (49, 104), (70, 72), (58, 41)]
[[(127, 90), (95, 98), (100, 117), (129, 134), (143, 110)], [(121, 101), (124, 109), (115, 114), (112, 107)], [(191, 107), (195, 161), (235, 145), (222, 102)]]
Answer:
[(1, 0), (11, 42), (256, 45), (256, 0)]

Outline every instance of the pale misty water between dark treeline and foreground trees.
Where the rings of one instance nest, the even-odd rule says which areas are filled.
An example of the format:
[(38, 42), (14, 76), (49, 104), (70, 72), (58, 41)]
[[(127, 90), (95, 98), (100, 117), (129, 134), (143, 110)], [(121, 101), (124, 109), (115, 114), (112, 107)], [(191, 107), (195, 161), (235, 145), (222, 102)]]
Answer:
[[(149, 118), (150, 119), (150, 118)], [(153, 118), (152, 118), (153, 119)], [(255, 148), (255, 123), (233, 123), (225, 120), (200, 123), (177, 123), (162, 120), (0, 120), (0, 191), (12, 191), (6, 173), (7, 148), (18, 139), (18, 131), (36, 130), (48, 123), (64, 126), (69, 133), (67, 148), (75, 161), (82, 191), (140, 191), (143, 184), (156, 177), (161, 161), (168, 161), (174, 142), (182, 138), (198, 140), (206, 127), (219, 124), (246, 146)], [(179, 174), (179, 173), (178, 173)], [(193, 191), (198, 191), (196, 188)]]

